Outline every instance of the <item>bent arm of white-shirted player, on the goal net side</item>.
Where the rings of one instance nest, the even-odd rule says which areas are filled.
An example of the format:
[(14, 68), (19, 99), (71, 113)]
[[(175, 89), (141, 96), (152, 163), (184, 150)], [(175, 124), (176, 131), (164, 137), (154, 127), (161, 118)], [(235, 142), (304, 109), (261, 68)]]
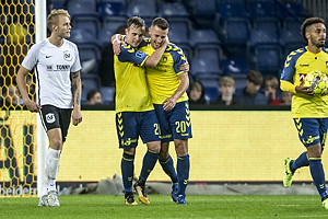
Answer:
[(17, 87), (19, 87), (20, 93), (21, 93), (23, 101), (24, 101), (26, 107), (28, 108), (28, 111), (39, 112), (40, 106), (37, 105), (34, 101), (32, 101), (27, 93), (25, 78), (28, 72), (30, 72), (28, 69), (25, 69), (24, 67), (21, 66), (19, 72), (17, 72), (17, 76), (16, 76)]

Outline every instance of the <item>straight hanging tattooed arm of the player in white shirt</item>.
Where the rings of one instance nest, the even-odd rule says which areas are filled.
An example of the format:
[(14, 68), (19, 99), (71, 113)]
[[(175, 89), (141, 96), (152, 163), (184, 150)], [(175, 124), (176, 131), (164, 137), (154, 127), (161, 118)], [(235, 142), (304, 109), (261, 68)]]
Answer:
[(71, 79), (72, 79), (71, 89), (72, 89), (72, 95), (74, 101), (72, 120), (73, 120), (73, 125), (77, 126), (79, 125), (79, 123), (82, 122), (82, 114), (81, 114), (82, 83), (81, 83), (80, 71), (71, 72)]

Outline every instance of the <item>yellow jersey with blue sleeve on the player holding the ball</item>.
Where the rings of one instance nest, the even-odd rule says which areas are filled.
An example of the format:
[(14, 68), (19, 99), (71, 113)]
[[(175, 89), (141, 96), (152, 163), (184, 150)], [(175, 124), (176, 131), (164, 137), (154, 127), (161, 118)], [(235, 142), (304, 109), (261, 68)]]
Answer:
[[(318, 54), (308, 51), (307, 46), (292, 51), (284, 62), (281, 83), (289, 81), (300, 85), (311, 71), (328, 73), (328, 48)], [(325, 118), (328, 117), (328, 95), (307, 95), (294, 93), (292, 101), (293, 118)]]

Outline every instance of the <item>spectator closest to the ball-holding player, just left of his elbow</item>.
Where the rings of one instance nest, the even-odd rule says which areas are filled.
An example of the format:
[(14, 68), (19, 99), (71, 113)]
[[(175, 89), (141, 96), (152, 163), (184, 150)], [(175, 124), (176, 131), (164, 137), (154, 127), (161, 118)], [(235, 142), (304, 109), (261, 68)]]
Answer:
[(278, 95), (279, 82), (276, 76), (267, 76), (265, 79), (265, 94), (269, 99), (270, 105), (280, 105), (283, 103)]

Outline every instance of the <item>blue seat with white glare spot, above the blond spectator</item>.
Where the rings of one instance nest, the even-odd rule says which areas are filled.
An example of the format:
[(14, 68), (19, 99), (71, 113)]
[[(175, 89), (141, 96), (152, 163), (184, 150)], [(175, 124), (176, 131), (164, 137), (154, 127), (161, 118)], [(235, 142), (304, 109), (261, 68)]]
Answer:
[(249, 65), (244, 58), (223, 59), (221, 67), (224, 76), (245, 78), (249, 71)]

